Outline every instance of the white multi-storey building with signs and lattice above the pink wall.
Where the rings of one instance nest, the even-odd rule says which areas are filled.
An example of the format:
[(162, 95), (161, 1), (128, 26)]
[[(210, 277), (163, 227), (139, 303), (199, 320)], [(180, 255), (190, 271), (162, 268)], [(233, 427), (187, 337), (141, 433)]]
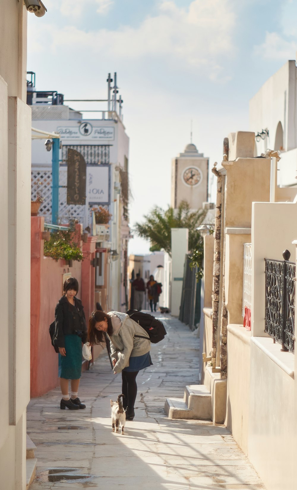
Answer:
[[(32, 109), (32, 126), (37, 130), (57, 132), (62, 143), (59, 171), (59, 222), (70, 219), (91, 229), (91, 210), (103, 206), (112, 215), (108, 224), (96, 226), (98, 259), (95, 265), (95, 301), (104, 309), (125, 309), (127, 303), (127, 247), (129, 240), (128, 218), (128, 158), (129, 138), (122, 118), (122, 99), (117, 96), (116, 73), (108, 76), (106, 110), (98, 111), (101, 117), (84, 119), (83, 111), (72, 109), (64, 102), (86, 105), (87, 100), (64, 100), (56, 91), (35, 89), (35, 73), (28, 72), (27, 103)], [(92, 106), (93, 107), (93, 106)], [(90, 112), (90, 111), (89, 111)], [(46, 151), (43, 140), (32, 141), (32, 199), (37, 187), (44, 201), (39, 215), (51, 222), (52, 203), (52, 153)], [(69, 150), (78, 151), (86, 162), (83, 203), (69, 203), (68, 165)], [(91, 230), (92, 231), (92, 230)]]

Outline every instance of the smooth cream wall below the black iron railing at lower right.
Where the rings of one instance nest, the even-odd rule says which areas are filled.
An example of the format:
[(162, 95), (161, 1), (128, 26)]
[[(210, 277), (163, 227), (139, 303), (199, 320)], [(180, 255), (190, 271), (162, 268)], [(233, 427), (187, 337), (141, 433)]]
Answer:
[(294, 379), (253, 342), (251, 387), (249, 459), (268, 490), (293, 490)]

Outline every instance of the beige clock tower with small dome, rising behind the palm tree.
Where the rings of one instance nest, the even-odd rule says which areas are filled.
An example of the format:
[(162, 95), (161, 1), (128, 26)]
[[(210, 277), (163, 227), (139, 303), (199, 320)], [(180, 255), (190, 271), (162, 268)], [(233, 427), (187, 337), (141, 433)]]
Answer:
[(177, 208), (186, 200), (190, 209), (202, 208), (202, 203), (207, 201), (208, 158), (190, 143), (173, 158), (171, 175), (171, 206)]

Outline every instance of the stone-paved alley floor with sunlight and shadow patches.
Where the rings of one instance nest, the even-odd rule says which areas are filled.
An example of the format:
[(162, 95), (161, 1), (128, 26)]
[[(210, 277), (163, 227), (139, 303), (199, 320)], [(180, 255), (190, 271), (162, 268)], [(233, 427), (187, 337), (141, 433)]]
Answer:
[(121, 393), (121, 375), (106, 352), (82, 375), (86, 410), (60, 410), (59, 389), (30, 401), (27, 432), (38, 458), (30, 490), (264, 488), (224, 426), (166, 417), (165, 398), (198, 383), (199, 340), (179, 320), (162, 318), (168, 335), (152, 345), (154, 365), (137, 376), (136, 417), (124, 435), (112, 432), (110, 398)]

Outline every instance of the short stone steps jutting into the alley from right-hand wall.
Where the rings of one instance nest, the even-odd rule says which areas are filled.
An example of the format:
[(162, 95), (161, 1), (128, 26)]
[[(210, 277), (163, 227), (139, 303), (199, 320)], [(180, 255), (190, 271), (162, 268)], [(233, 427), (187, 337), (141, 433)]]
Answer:
[(212, 420), (222, 424), (226, 416), (227, 380), (220, 379), (211, 367), (205, 371), (204, 385), (185, 387), (183, 398), (166, 398), (168, 418)]

